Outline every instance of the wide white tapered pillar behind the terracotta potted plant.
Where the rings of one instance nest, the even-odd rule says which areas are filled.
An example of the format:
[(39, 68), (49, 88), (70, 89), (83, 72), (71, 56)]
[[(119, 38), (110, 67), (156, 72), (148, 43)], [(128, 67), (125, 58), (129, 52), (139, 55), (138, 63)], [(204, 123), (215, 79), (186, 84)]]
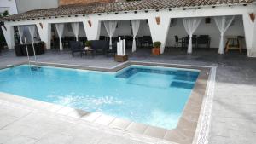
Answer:
[[(159, 24), (157, 24), (156, 19), (159, 17)], [(166, 38), (169, 32), (170, 27), (170, 21), (171, 19), (167, 16), (152, 16), (148, 18), (148, 25), (151, 32), (151, 37), (153, 40), (153, 43), (156, 41), (161, 42), (161, 54), (164, 53), (165, 47), (166, 47)]]

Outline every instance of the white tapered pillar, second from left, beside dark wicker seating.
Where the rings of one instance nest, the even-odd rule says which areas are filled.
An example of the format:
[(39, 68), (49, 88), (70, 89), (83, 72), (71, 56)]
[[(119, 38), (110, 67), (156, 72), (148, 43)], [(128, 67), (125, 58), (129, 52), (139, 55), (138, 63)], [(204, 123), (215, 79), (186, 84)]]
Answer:
[(51, 24), (48, 22), (37, 23), (38, 33), (41, 41), (45, 43), (46, 49), (50, 49)]

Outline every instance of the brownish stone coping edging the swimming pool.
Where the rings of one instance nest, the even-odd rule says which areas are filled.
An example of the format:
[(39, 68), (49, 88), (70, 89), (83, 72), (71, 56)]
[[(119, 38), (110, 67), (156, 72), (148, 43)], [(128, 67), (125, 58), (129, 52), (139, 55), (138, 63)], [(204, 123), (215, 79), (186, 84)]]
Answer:
[[(22, 64), (28, 64), (27, 62), (23, 62), (13, 66), (19, 66)], [(85, 121), (94, 124), (102, 124), (108, 125), (110, 128), (125, 130), (131, 133), (137, 133), (141, 135), (148, 135), (149, 137), (158, 138), (164, 141), (172, 141), (181, 144), (189, 144), (192, 143), (195, 138), (198, 137), (198, 123), (200, 121), (201, 106), (205, 99), (205, 95), (207, 93), (207, 81), (209, 78), (209, 74), (211, 71), (211, 66), (189, 66), (189, 65), (177, 65), (177, 64), (165, 64), (165, 63), (152, 63), (152, 62), (140, 62), (140, 61), (127, 61), (125, 63), (121, 63), (118, 66), (113, 66), (111, 68), (105, 67), (94, 67), (94, 66), (74, 66), (74, 65), (66, 65), (66, 64), (56, 64), (56, 63), (45, 63), (45, 62), (31, 62), (33, 65), (39, 66), (57, 66), (64, 68), (75, 68), (75, 69), (83, 69), (83, 70), (91, 70), (91, 71), (103, 71), (103, 72), (117, 72), (127, 66), (131, 65), (143, 65), (143, 66), (165, 66), (165, 67), (173, 67), (173, 68), (183, 68), (183, 69), (196, 69), (200, 70), (200, 74), (195, 82), (195, 87), (189, 96), (189, 100), (187, 101), (181, 118), (177, 124), (177, 128), (172, 130), (166, 130), (146, 124), (137, 124), (128, 120), (124, 120), (121, 118), (114, 118), (112, 116), (108, 116), (102, 114), (100, 112), (84, 112), (81, 110), (73, 109), (71, 107), (63, 107), (60, 105), (55, 105), (52, 103), (33, 100), (29, 98), (25, 98), (22, 96), (10, 95), (6, 93), (0, 92), (0, 99), (6, 101), (13, 101), (25, 104), (26, 106), (35, 107), (39, 109), (44, 109), (49, 112), (56, 112), (61, 115), (65, 115), (73, 118), (81, 118)], [(11, 66), (6, 66), (3, 68), (8, 68)], [(3, 69), (0, 68), (0, 69)], [(200, 124), (199, 124), (200, 125)], [(195, 141), (195, 140), (194, 140)]]

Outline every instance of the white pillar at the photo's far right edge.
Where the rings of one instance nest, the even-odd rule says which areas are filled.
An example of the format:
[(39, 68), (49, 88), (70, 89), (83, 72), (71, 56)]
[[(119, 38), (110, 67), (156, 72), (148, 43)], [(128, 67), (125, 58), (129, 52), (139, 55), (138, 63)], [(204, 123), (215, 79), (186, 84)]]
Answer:
[[(256, 14), (256, 12), (254, 12)], [(242, 15), (245, 41), (247, 45), (247, 56), (256, 57), (256, 20), (251, 20), (249, 14)]]

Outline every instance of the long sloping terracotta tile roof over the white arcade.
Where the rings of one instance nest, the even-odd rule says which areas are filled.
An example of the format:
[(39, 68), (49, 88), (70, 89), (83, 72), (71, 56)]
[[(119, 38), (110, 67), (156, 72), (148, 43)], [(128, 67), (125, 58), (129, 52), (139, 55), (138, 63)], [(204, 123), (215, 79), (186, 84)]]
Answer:
[(32, 19), (69, 14), (96, 14), (119, 11), (172, 9), (180, 7), (199, 7), (218, 4), (252, 3), (254, 0), (142, 0), (119, 3), (93, 3), (60, 6), (53, 9), (36, 9), (22, 14), (14, 14), (3, 20)]

